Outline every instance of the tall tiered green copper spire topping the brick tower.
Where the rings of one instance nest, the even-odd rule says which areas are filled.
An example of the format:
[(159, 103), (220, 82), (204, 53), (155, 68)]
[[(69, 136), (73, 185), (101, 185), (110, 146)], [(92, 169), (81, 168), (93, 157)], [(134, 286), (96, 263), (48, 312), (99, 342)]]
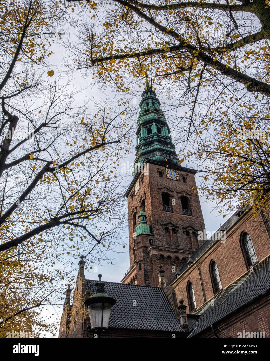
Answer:
[(137, 121), (137, 145), (135, 164), (148, 158), (167, 164), (177, 165), (179, 160), (171, 140), (170, 129), (160, 101), (146, 79), (145, 90), (141, 95), (140, 114)]

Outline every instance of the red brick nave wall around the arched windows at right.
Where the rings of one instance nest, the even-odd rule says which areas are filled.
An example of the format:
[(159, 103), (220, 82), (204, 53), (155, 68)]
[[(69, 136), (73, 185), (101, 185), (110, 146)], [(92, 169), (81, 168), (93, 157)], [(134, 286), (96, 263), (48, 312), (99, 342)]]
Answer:
[[(240, 247), (240, 235), (243, 231), (248, 232), (251, 236), (258, 261), (261, 261), (270, 254), (270, 241), (260, 216), (254, 218), (252, 212), (248, 213), (232, 227), (232, 230), (226, 233), (226, 241), (224, 243), (217, 242), (212, 249), (206, 252), (205, 255), (196, 262), (201, 272), (206, 301), (213, 297), (213, 288), (209, 273), (211, 260), (217, 262), (223, 288), (227, 287), (247, 271)], [(188, 304), (186, 292), (188, 280), (193, 284), (196, 306), (199, 307), (204, 303), (204, 300), (198, 269), (194, 265), (175, 281), (173, 286), (177, 299), (183, 298), (184, 303)], [(189, 308), (188, 312), (190, 312)]]

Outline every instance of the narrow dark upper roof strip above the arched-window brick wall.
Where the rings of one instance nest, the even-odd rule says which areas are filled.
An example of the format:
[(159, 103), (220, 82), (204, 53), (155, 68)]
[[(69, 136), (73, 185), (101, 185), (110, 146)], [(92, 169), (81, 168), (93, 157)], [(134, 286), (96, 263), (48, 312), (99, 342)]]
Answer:
[[(237, 214), (240, 210), (243, 210), (246, 212), (248, 210), (248, 208), (245, 207), (245, 208), (239, 208), (238, 210), (236, 210), (236, 212), (230, 218), (228, 218), (227, 221), (225, 223), (223, 223), (223, 225), (221, 227), (224, 228), (226, 231), (228, 231), (238, 221), (238, 219), (240, 219), (241, 217), (244, 216), (244, 213), (243, 213), (243, 215), (241, 217), (238, 217)], [(201, 256), (203, 256), (204, 253), (212, 247), (212, 245), (214, 245), (216, 242), (219, 242), (218, 238), (215, 237), (215, 234), (217, 234), (217, 232), (218, 231), (216, 231), (210, 239), (208, 239), (199, 249), (197, 249), (197, 251), (195, 253), (193, 253), (193, 255), (191, 256), (193, 261), (199, 260), (199, 258)], [(171, 280), (170, 284), (173, 283), (187, 269), (188, 269), (188, 265), (187, 264), (183, 265), (177, 271), (174, 278)]]

